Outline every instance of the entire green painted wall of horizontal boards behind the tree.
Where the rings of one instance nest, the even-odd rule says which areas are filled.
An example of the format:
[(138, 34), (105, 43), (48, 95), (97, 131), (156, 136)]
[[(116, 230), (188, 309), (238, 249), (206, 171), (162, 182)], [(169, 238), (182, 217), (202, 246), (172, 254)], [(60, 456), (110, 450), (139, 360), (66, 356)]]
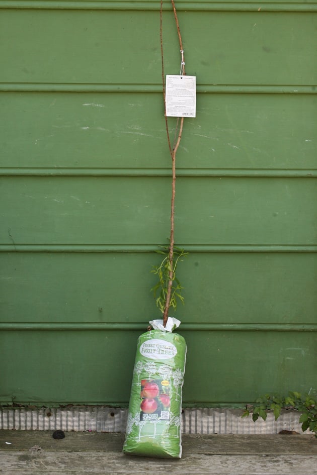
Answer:
[[(316, 390), (317, 2), (176, 5), (184, 406)], [(169, 236), (160, 2), (0, 0), (0, 37), (0, 402), (124, 406)]]

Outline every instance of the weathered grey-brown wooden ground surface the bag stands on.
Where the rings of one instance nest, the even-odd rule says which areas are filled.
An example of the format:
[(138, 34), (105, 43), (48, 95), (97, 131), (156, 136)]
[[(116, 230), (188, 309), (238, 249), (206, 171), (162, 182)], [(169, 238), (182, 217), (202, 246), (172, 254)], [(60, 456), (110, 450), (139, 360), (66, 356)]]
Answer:
[[(181, 460), (121, 452), (124, 435), (0, 430), (0, 475), (317, 475), (311, 435), (184, 435)], [(9, 443), (8, 443), (9, 442)]]

